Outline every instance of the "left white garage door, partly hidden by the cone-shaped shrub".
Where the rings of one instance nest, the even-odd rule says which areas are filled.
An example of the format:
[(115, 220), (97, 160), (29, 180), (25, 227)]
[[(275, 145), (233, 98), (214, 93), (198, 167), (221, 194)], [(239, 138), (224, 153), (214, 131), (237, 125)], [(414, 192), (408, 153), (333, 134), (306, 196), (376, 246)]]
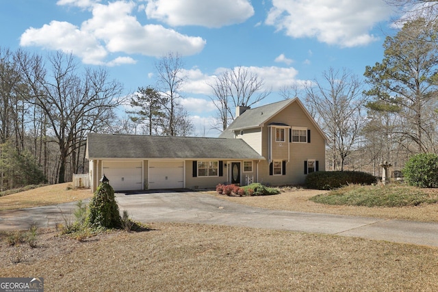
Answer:
[(103, 161), (103, 174), (115, 191), (143, 189), (142, 161)]

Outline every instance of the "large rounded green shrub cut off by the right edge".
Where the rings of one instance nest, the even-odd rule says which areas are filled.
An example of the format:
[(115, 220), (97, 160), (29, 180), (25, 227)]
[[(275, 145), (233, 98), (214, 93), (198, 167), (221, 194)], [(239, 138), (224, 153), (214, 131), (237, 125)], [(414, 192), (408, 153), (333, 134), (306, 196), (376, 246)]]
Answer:
[(438, 187), (438, 155), (421, 153), (409, 158), (402, 170), (404, 181), (414, 187)]

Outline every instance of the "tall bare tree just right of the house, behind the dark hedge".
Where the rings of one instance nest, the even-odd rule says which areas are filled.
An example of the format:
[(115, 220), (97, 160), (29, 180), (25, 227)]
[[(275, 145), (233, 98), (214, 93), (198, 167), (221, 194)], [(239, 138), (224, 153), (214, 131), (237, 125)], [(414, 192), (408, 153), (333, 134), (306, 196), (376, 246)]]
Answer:
[(329, 157), (333, 170), (344, 170), (346, 158), (355, 150), (365, 122), (362, 105), (362, 83), (349, 70), (329, 68), (322, 81), (305, 85), (306, 104), (320, 120), (329, 137)]

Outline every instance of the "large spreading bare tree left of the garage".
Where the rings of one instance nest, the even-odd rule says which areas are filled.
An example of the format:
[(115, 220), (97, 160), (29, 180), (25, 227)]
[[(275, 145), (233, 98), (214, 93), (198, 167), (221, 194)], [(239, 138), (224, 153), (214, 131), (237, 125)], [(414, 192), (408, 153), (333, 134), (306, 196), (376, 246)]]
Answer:
[[(32, 95), (23, 96), (44, 111), (56, 137), (60, 157), (58, 183), (66, 180), (69, 155), (83, 143), (96, 121), (110, 116), (120, 104), (122, 87), (110, 81), (103, 68), (80, 70), (73, 55), (57, 52), (49, 57), (49, 70), (42, 57), (21, 52), (16, 57)], [(49, 72), (49, 73), (48, 73)]]

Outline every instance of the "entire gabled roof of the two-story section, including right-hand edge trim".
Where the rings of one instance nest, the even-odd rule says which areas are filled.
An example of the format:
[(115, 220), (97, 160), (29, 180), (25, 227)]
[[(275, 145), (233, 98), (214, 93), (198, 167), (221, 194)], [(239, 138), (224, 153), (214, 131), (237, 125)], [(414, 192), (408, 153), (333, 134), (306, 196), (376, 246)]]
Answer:
[(220, 135), (220, 138), (234, 138), (233, 131), (242, 129), (252, 129), (263, 126), (266, 121), (270, 120), (273, 116), (278, 114), (281, 110), (292, 103), (298, 103), (301, 109), (305, 112), (306, 116), (311, 120), (316, 129), (321, 133), (324, 140), (327, 140), (326, 135), (322, 129), (318, 126), (315, 120), (309, 114), (309, 111), (305, 109), (298, 97), (286, 99), (276, 103), (270, 103), (269, 105), (263, 105), (261, 107), (255, 107), (254, 109), (246, 109), (243, 114), (235, 118), (235, 120), (225, 129)]

